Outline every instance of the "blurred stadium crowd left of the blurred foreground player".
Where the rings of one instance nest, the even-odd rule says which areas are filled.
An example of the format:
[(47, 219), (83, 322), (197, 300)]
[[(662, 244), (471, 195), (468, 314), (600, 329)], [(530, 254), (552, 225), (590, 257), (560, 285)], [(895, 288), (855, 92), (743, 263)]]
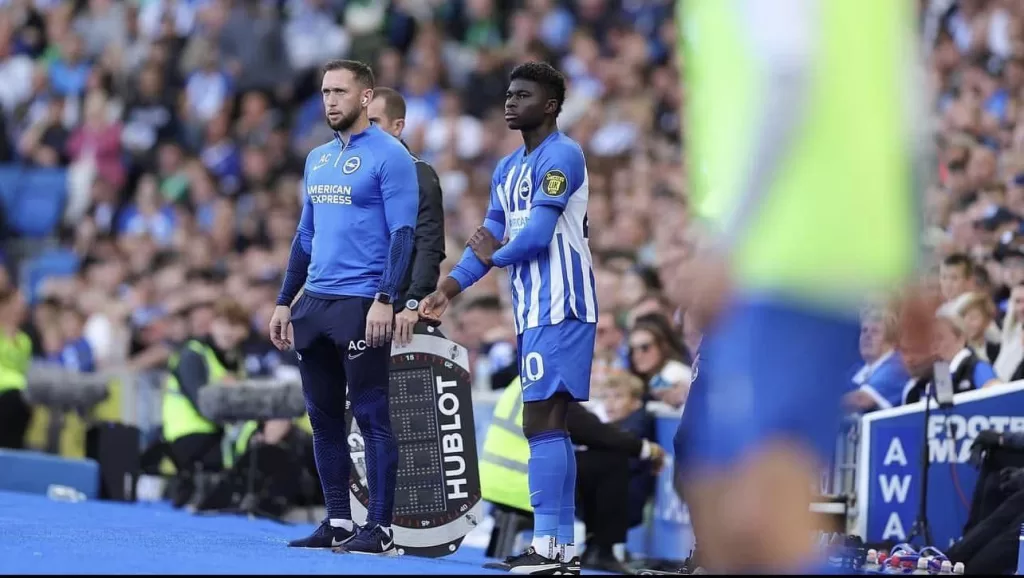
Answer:
[[(203, 334), (207, 305), (229, 294), (258, 329), (250, 370), (289, 363), (263, 328), (298, 217), (302, 162), (331, 137), (317, 66), (347, 56), (400, 90), (406, 139), (439, 173), (442, 274), (481, 220), (495, 162), (517, 146), (502, 125), (508, 71), (557, 63), (570, 87), (559, 125), (590, 161), (601, 359), (646, 379), (664, 359), (685, 363), (658, 275), (674, 263), (686, 210), (672, 4), (5, 3), (0, 160), (67, 168), (59, 239), (81, 262), (26, 295), (35, 355), (74, 346), (83, 369), (162, 368), (169, 345)], [(445, 320), (484, 387), (511, 379), (501, 372), (514, 359), (508, 303), (496, 271)], [(628, 334), (649, 314), (662, 317)], [(673, 381), (685, 381), (672, 368)], [(677, 406), (684, 397), (665, 395)]]

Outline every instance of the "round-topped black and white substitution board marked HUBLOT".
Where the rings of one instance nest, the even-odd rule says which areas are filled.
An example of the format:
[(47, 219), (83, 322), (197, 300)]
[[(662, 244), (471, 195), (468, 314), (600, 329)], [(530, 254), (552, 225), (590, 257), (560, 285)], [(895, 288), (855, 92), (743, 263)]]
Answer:
[[(480, 522), (480, 474), (466, 348), (423, 324), (391, 352), (391, 425), (398, 479), (391, 528), (401, 553), (437, 558), (459, 549)], [(345, 412), (352, 459), (352, 517), (367, 518), (365, 445)]]

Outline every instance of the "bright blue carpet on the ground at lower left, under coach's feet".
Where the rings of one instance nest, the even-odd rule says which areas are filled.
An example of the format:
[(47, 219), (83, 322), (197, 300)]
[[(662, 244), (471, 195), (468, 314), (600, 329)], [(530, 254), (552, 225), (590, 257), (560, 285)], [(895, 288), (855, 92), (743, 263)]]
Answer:
[(197, 517), (166, 503), (58, 502), (0, 492), (3, 574), (505, 574), (483, 551), (378, 558), (289, 548), (314, 526)]

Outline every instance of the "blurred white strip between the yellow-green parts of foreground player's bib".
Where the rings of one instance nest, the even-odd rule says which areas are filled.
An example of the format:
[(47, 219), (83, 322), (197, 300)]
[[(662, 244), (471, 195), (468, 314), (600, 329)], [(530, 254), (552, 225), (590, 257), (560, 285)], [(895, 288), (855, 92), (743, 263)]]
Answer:
[[(731, 0), (746, 23), (751, 55), (760, 76), (759, 108), (741, 198), (727, 215), (717, 240), (728, 253), (763, 206), (776, 172), (792, 151), (811, 95), (821, 0)], [(826, 0), (827, 1), (827, 0)]]

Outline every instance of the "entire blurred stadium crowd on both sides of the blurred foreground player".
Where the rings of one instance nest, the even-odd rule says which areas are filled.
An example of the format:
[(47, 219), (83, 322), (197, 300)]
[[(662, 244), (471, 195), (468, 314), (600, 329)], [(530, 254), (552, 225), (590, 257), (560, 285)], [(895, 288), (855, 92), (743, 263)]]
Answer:
[[(331, 138), (318, 66), (366, 60), (378, 85), (403, 95), (404, 138), (443, 190), (443, 277), (482, 220), (495, 163), (519, 144), (502, 118), (508, 72), (547, 60), (568, 81), (559, 127), (589, 163), (595, 381), (633, 373), (642, 399), (680, 408), (700, 336), (675, 304), (693, 244), (674, 4), (0, 2), (0, 164), (66, 169), (69, 190), (52, 232), (57, 249), (16, 239), (3, 215), (3, 283), (22, 291), (0, 292), (0, 325), (24, 318), (37, 359), (146, 375), (207, 334), (215, 302), (230, 295), (254, 329), (248, 372), (294, 372), (293, 355), (274, 349), (265, 328), (305, 155)], [(931, 275), (949, 301), (938, 356), (954, 372), (970, 356), (972, 387), (1008, 382), (1024, 376), (1024, 2), (919, 7), (938, 151), (926, 175), (925, 241), (940, 256)], [(44, 249), (78, 266), (27, 283), (22, 262)], [(516, 375), (509, 302), (494, 270), (443, 320), (470, 352), (477, 389)], [(891, 314), (865, 316), (862, 350), (852, 409), (914, 399), (911, 381), (930, 364), (900, 358)], [(595, 389), (600, 402), (613, 398)], [(626, 407), (595, 411), (615, 421), (637, 406)]]

